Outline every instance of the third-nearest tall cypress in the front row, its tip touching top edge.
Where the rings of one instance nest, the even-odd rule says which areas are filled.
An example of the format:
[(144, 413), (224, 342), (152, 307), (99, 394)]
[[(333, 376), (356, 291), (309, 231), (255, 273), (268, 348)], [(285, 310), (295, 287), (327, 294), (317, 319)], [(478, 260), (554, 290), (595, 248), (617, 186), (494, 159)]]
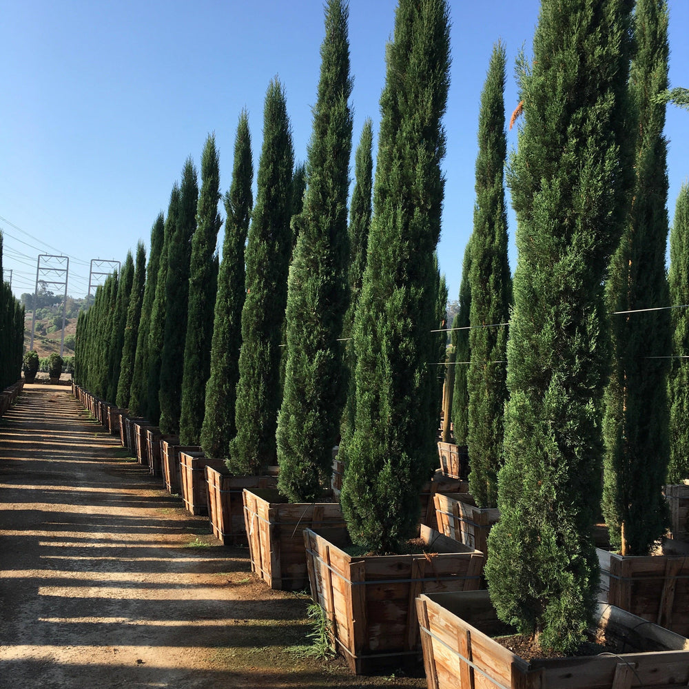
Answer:
[(287, 367), (278, 417), (278, 488), (311, 502), (330, 480), (347, 376), (342, 320), (347, 311), (347, 195), (351, 154), (349, 10), (325, 9), (318, 99), (313, 110), (304, 207), (287, 282)]

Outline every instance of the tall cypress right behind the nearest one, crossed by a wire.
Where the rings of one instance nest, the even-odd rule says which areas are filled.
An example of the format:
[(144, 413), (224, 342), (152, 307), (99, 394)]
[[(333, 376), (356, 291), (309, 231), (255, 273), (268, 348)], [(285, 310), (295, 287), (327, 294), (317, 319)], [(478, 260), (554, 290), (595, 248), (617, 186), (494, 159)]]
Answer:
[[(628, 224), (610, 263), (606, 296), (610, 311), (666, 307), (668, 237), (666, 106), (655, 96), (668, 86), (668, 10), (660, 0), (637, 0), (636, 54), (630, 71), (632, 112), (638, 118), (636, 180)], [(613, 373), (603, 420), (603, 514), (610, 545), (647, 555), (665, 532), (663, 486), (670, 459), (667, 376), (670, 312), (611, 316)]]

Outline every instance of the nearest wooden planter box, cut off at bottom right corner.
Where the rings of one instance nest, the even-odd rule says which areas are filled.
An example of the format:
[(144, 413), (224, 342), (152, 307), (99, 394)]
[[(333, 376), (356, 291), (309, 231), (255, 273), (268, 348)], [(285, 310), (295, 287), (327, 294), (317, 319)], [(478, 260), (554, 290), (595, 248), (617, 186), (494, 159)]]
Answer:
[(599, 604), (598, 641), (615, 651), (531, 662), (492, 637), (513, 630), (497, 619), (488, 591), (416, 599), (429, 689), (629, 689), (689, 681), (689, 641), (624, 610)]

